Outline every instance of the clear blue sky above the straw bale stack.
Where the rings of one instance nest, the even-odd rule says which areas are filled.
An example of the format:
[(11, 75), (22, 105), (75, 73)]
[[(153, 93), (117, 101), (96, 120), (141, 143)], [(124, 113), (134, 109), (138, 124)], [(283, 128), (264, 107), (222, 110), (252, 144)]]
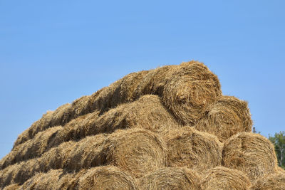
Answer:
[(0, 0), (0, 158), (46, 110), (124, 75), (199, 60), (254, 126), (285, 130), (285, 1)]

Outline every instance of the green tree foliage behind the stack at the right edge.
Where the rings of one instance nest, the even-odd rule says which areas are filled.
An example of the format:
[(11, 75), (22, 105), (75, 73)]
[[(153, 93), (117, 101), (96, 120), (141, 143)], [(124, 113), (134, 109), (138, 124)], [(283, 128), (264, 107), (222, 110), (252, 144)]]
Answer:
[(274, 144), (279, 167), (285, 169), (285, 132), (276, 132), (274, 137), (269, 135), (269, 140)]

